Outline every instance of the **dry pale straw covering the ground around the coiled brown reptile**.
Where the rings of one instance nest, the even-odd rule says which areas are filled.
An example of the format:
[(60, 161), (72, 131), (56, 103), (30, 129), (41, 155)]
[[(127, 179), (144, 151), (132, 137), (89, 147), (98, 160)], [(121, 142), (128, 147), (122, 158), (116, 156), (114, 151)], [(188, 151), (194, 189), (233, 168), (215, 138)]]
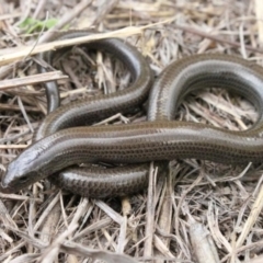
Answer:
[[(49, 18), (58, 19), (55, 30), (92, 27), (111, 32), (99, 37), (128, 36), (148, 56), (156, 75), (171, 60), (199, 53), (263, 61), (261, 0), (20, 2), (0, 0), (0, 64), (4, 65), (0, 76), (10, 87), (14, 78), (24, 81), (15, 89), (0, 89), (2, 169), (31, 144), (46, 113), (42, 85), (32, 79), (26, 82), (25, 77), (36, 73), (36, 61), (30, 55), (54, 44), (47, 43), (49, 32), (37, 37), (22, 31), (19, 23), (25, 18), (44, 21), (48, 11)], [(100, 66), (91, 77), (87, 68), (72, 70), (78, 55), (70, 59), (59, 65), (76, 89), (59, 81), (62, 103), (114, 92), (116, 82), (127, 85), (127, 75), (119, 80), (116, 68), (122, 68), (108, 58), (95, 56)], [(126, 117), (145, 119), (142, 113)], [(126, 117), (115, 119), (125, 123)], [(244, 99), (210, 90), (188, 96), (178, 119), (237, 130), (250, 127), (256, 113)], [(263, 262), (262, 165), (184, 160), (171, 162), (167, 176), (160, 176), (155, 165), (150, 175), (148, 191), (122, 201), (81, 198), (50, 188), (46, 181), (18, 194), (0, 194), (0, 261)]]

